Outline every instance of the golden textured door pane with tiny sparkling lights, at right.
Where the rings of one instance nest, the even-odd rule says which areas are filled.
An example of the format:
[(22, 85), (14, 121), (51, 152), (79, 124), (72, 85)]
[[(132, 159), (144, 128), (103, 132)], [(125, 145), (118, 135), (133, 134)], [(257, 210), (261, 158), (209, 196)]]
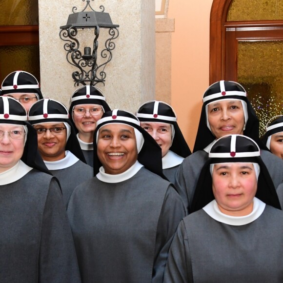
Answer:
[(283, 114), (283, 41), (240, 41), (237, 75), (260, 119), (263, 135), (267, 121)]

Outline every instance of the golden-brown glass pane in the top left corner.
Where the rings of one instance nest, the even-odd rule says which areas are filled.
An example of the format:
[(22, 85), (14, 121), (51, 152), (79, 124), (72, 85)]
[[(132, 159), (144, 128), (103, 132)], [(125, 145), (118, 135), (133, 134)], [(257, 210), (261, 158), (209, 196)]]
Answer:
[(38, 25), (38, 0), (0, 0), (0, 25)]

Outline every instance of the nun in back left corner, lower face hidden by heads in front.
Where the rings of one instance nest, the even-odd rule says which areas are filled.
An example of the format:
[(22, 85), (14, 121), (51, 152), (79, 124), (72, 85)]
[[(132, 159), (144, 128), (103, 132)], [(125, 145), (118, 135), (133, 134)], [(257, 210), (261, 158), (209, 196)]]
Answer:
[(34, 102), (43, 99), (38, 80), (25, 71), (10, 73), (2, 81), (1, 88), (0, 95), (20, 101), (26, 112)]

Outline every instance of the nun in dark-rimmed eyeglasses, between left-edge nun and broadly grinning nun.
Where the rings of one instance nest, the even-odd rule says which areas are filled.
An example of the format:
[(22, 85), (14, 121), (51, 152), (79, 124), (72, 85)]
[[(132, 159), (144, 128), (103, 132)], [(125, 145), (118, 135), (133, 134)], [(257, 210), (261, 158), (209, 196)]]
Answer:
[(28, 113), (28, 120), (37, 131), (40, 155), (58, 178), (66, 206), (75, 187), (93, 177), (68, 117), (67, 108), (51, 99), (37, 101)]

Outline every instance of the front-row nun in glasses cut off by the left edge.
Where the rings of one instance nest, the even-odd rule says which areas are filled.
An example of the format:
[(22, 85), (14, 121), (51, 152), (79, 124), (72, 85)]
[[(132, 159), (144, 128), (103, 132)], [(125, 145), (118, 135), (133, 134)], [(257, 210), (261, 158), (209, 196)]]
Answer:
[(48, 173), (26, 110), (0, 97), (1, 283), (81, 282), (61, 189)]

